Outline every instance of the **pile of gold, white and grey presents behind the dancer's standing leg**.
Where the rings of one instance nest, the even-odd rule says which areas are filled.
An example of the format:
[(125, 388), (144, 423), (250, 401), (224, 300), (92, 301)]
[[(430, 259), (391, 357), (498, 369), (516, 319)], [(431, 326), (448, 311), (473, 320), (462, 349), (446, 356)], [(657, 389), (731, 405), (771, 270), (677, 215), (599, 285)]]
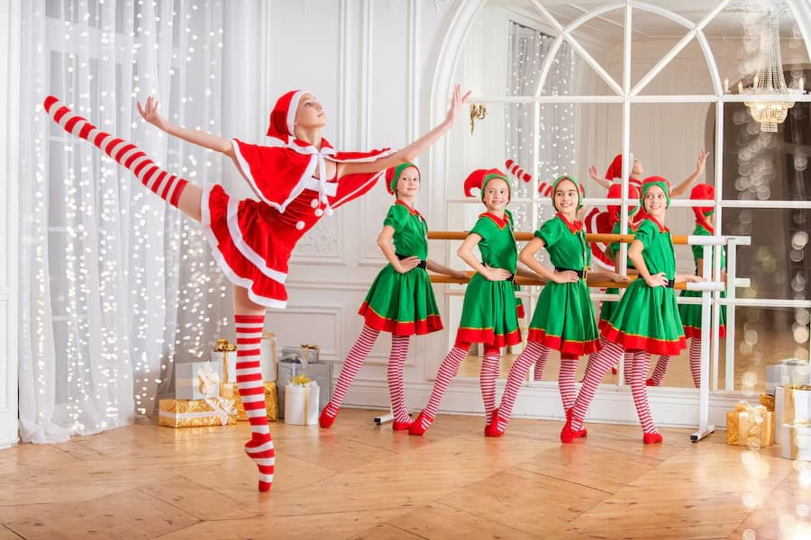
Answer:
[[(287, 424), (318, 424), (330, 400), (333, 365), (321, 362), (317, 346), (282, 347), (276, 337), (262, 334), (261, 365), (268, 419)], [(160, 426), (197, 428), (248, 421), (236, 383), (236, 346), (219, 339), (204, 362), (175, 365), (175, 398), (159, 401)], [(283, 386), (279, 390), (277, 383)]]

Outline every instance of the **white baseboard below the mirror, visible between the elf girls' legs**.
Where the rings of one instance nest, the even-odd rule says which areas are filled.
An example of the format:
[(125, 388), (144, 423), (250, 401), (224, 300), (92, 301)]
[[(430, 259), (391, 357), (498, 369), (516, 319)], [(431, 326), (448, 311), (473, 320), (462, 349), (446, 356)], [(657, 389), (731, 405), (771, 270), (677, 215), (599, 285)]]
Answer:
[[(505, 380), (497, 381), (497, 400), (504, 393)], [(410, 410), (417, 410), (428, 401), (433, 383), (405, 383), (405, 401)], [(688, 388), (649, 388), (649, 401), (653, 419), (662, 428), (696, 428), (698, 425), (698, 392)], [(388, 406), (386, 381), (356, 379), (343, 401), (345, 407)], [(734, 409), (740, 400), (736, 392), (718, 392), (710, 396), (709, 421), (716, 428), (725, 428), (726, 411)], [(594, 403), (588, 410), (588, 422), (638, 425), (636, 409), (633, 406), (631, 389), (628, 386), (617, 388), (613, 384), (601, 384), (597, 388)], [(482, 416), (484, 407), (478, 380), (456, 378), (451, 382), (442, 398), (440, 413), (470, 414)], [(563, 421), (560, 404), (560, 391), (557, 383), (524, 383), (515, 401), (513, 418)], [(588, 426), (587, 426), (588, 427)], [(509, 428), (507, 428), (509, 434)], [(685, 437), (689, 437), (685, 434)]]

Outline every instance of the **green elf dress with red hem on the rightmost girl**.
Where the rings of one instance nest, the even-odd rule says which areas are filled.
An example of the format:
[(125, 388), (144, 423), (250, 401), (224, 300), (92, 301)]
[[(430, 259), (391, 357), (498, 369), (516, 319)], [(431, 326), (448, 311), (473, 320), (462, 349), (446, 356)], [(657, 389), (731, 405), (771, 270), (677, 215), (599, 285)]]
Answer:
[[(644, 193), (642, 191), (642, 201)], [(642, 242), (642, 258), (651, 275), (664, 272), (669, 286), (651, 287), (641, 277), (633, 280), (611, 320), (603, 327), (602, 335), (625, 350), (678, 355), (687, 347), (687, 340), (681, 327), (676, 292), (672, 289), (676, 256), (670, 229), (646, 217), (636, 230), (634, 240)]]

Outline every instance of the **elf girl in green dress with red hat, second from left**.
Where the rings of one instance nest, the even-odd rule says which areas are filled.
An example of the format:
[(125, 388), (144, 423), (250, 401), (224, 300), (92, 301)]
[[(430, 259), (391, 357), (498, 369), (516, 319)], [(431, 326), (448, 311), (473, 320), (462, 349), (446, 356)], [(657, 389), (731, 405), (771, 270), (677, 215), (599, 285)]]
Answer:
[[(468, 356), (473, 343), (485, 346), (479, 382), (487, 430), (492, 411), (496, 409), (496, 378), (501, 347), (521, 342), (513, 289), (518, 251), (515, 248), (513, 218), (505, 208), (510, 202), (510, 184), (506, 175), (498, 169), (478, 169), (465, 180), (465, 193), (472, 196), (470, 190), (474, 187), (481, 189), (481, 200), (488, 211), (478, 216), (476, 225), (457, 253), (476, 270), (476, 274), (470, 278), (465, 291), (456, 342), (436, 374), (431, 398), (408, 430), (411, 435), (423, 435), (431, 426), (442, 395), (459, 372), (459, 366)], [(481, 253), (480, 261), (473, 254), (473, 248), (477, 246)]]

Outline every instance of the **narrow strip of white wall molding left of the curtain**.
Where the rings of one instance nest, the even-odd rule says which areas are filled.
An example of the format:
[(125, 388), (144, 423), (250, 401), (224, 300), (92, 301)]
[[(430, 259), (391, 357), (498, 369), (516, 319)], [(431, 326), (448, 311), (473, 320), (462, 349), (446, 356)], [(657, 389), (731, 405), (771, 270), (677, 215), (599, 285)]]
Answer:
[(5, 181), (3, 188), (5, 203), (5, 283), (0, 283), (0, 337), (3, 349), (0, 350), (0, 447), (11, 446), (19, 440), (17, 374), (20, 363), (17, 321), (18, 307), (18, 220), (19, 205), (17, 182), (19, 171), (20, 133), (20, 0), (0, 4), (0, 73), (5, 73), (5, 83), (0, 84), (0, 164), (3, 164)]

